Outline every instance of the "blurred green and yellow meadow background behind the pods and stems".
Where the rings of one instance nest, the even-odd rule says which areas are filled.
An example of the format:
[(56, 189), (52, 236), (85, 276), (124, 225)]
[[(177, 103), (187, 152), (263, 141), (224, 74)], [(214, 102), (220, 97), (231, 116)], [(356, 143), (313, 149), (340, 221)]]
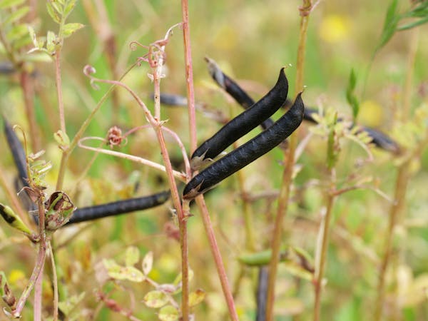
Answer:
[[(103, 4), (101, 5), (101, 3)], [(230, 97), (213, 83), (206, 70), (204, 56), (214, 58), (223, 70), (247, 89), (254, 98), (260, 98), (276, 80), (281, 66), (287, 66), (290, 98), (294, 93), (295, 61), (297, 55), (300, 1), (190, 1), (190, 34), (193, 51), (196, 101), (223, 111), (228, 116), (240, 113)], [(408, 1), (399, 1), (409, 6)], [(400, 132), (393, 130), (394, 115), (402, 106), (404, 79), (409, 66), (407, 56), (413, 41), (417, 41), (412, 86), (412, 109), (427, 104), (428, 95), (428, 38), (427, 26), (402, 31), (392, 37), (372, 59), (379, 42), (384, 15), (389, 1), (321, 1), (310, 16), (305, 60), (304, 101), (307, 106), (334, 108), (340, 115), (351, 118), (345, 91), (351, 68), (357, 74), (357, 95), (360, 98), (358, 121), (379, 128), (398, 141)], [(105, 10), (105, 11), (104, 11)], [(106, 16), (103, 16), (106, 14)], [(91, 64), (99, 78), (117, 78), (144, 49), (131, 51), (131, 41), (151, 44), (163, 38), (165, 31), (181, 21), (180, 4), (175, 1), (146, 0), (82, 0), (69, 19), (85, 27), (66, 39), (62, 54), (63, 95), (66, 108), (68, 135), (73, 137), (88, 113), (96, 105), (108, 86), (94, 90), (83, 76), (83, 66)], [(56, 31), (57, 26), (46, 13), (44, 1), (39, 1), (34, 24), (37, 34)], [(109, 38), (110, 37), (110, 38)], [(110, 64), (106, 41), (114, 43), (115, 61)], [(166, 49), (166, 78), (161, 91), (185, 96), (183, 37), (175, 29)], [(6, 60), (6, 57), (2, 57)], [(115, 66), (113, 70), (111, 66)], [(153, 86), (146, 76), (148, 66), (134, 68), (124, 82), (133, 88), (153, 108), (150, 95)], [(39, 125), (41, 146), (46, 159), (54, 168), (49, 173), (53, 191), (61, 153), (53, 133), (58, 130), (54, 63), (36, 63), (35, 111)], [(86, 136), (104, 137), (113, 125), (130, 129), (145, 124), (143, 112), (125, 91), (116, 90), (118, 105), (109, 99), (86, 131)], [(11, 123), (28, 129), (24, 103), (16, 75), (0, 76), (0, 106)], [(115, 109), (116, 108), (116, 109)], [(280, 116), (275, 115), (275, 118)], [(162, 118), (176, 131), (188, 146), (187, 111), (184, 108), (163, 106)], [(214, 133), (220, 124), (197, 115), (198, 139), (202, 142)], [(308, 131), (303, 124), (302, 137)], [(254, 136), (259, 129), (241, 139)], [(176, 169), (183, 170), (180, 150), (171, 140), (168, 148)], [(0, 139), (4, 153), (1, 164), (7, 169), (11, 184), (16, 171), (4, 136)], [(156, 136), (150, 129), (138, 131), (128, 138), (121, 151), (161, 163)], [(337, 164), (338, 181), (345, 182), (350, 175), (370, 180), (392, 198), (396, 165), (399, 160), (384, 151), (374, 150), (374, 161), (366, 163), (365, 152), (353, 143), (344, 142)], [(242, 175), (249, 193), (275, 191), (280, 186), (282, 159), (280, 150), (245, 168)], [(292, 245), (314, 255), (318, 222), (324, 204), (326, 141), (311, 139), (300, 158), (300, 173), (295, 181), (292, 205), (285, 222), (284, 247)], [(81, 173), (93, 154), (77, 148), (69, 161), (65, 189), (78, 206), (106, 203), (133, 195), (148, 195), (168, 188), (165, 175), (151, 168), (100, 155), (87, 175)], [(412, 179), (407, 200), (402, 210), (394, 238), (391, 268), (387, 273), (387, 320), (422, 321), (428, 317), (428, 153), (421, 161), (411, 163)], [(416, 175), (417, 174), (417, 175)], [(138, 188), (135, 192), (136, 182)], [(0, 200), (5, 195), (0, 190)], [(223, 253), (228, 277), (236, 290), (236, 304), (241, 320), (255, 320), (255, 283), (257, 269), (243, 267), (237, 257), (245, 253), (243, 201), (238, 187), (238, 175), (221, 183), (206, 195), (208, 208), (218, 242)], [(258, 250), (268, 248), (276, 202), (257, 200), (251, 204), (253, 228)], [(126, 320), (96, 301), (94, 291), (99, 287), (98, 263), (103, 258), (123, 260), (123, 252), (136, 245), (141, 254), (154, 253), (151, 277), (156, 282), (170, 283), (180, 272), (178, 242), (171, 235), (171, 204), (152, 210), (93, 223), (65, 228), (56, 233), (58, 265), (61, 267), (63, 287), (68, 295), (85, 293), (75, 310), (77, 320)], [(372, 320), (376, 297), (377, 272), (382, 255), (384, 233), (387, 230), (389, 202), (369, 189), (354, 190), (338, 198), (334, 208), (332, 235), (327, 258), (327, 285), (322, 298), (322, 320)], [(197, 208), (192, 208), (189, 244), (190, 266), (195, 276), (192, 289), (203, 288), (204, 302), (195, 307), (197, 320), (223, 320), (226, 307), (208, 250), (203, 225)], [(71, 238), (72, 236), (72, 238)], [(69, 239), (71, 238), (71, 239)], [(16, 293), (24, 286), (34, 265), (34, 248), (28, 240), (16, 235), (5, 225), (0, 226), (0, 270), (6, 271)], [(46, 278), (44, 296), (46, 307), (52, 301), (52, 290)], [(133, 309), (141, 320), (156, 320), (155, 310), (145, 307), (141, 300), (150, 287), (143, 283), (124, 282), (111, 285), (111, 296), (124, 307)], [(280, 265), (277, 279), (276, 320), (311, 320), (312, 284), (290, 274)], [(30, 316), (31, 308), (26, 309)], [(1, 319), (2, 317), (0, 317)], [(2, 320), (2, 319), (1, 319)]]

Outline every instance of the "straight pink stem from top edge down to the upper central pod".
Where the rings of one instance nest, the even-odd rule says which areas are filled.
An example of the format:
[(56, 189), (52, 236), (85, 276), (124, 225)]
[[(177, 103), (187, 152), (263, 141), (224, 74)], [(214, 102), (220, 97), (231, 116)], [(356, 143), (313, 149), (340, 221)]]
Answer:
[(190, 153), (193, 153), (198, 144), (196, 138), (196, 116), (195, 116), (195, 93), (193, 89), (193, 63), (192, 49), (190, 46), (189, 6), (188, 0), (181, 1), (181, 12), (183, 14), (183, 39), (185, 54), (185, 83), (188, 96), (188, 114), (190, 128)]

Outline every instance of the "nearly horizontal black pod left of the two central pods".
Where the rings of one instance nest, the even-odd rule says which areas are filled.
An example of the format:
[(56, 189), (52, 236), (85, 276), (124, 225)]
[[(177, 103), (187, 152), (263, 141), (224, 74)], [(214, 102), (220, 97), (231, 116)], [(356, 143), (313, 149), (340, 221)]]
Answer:
[(86, 222), (88, 220), (97, 220), (108, 216), (131, 213), (136, 210), (146, 210), (165, 203), (170, 197), (170, 191), (165, 190), (141, 198), (129, 198), (128, 200), (118, 200), (112, 203), (89, 206), (87, 208), (78, 208), (73, 212), (66, 225)]

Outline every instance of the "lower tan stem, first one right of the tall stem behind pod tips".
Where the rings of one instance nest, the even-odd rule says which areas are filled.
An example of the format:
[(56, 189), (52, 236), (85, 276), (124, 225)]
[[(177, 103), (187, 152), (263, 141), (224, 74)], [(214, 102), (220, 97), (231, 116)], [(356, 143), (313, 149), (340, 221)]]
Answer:
[(317, 248), (317, 265), (315, 266), (315, 305), (314, 305), (314, 321), (320, 321), (321, 312), (321, 292), (322, 292), (322, 278), (324, 277), (325, 262), (327, 260), (327, 247), (328, 239), (330, 235), (330, 220), (332, 215), (333, 205), (335, 204), (335, 170), (330, 170), (330, 184), (327, 187), (327, 209), (322, 218), (322, 224), (320, 225), (320, 236), (321, 240), (318, 245), (321, 248)]

